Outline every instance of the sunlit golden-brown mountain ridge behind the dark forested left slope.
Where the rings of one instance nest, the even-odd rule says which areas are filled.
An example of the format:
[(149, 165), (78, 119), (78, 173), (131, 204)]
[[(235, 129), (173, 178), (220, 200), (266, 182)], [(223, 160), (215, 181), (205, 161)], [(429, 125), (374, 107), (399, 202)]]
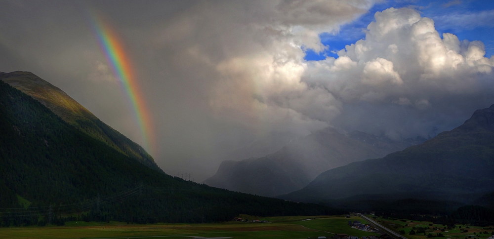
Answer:
[(57, 116), (85, 134), (124, 155), (161, 171), (154, 159), (138, 144), (108, 126), (64, 91), (31, 72), (0, 72), (0, 80), (33, 97)]

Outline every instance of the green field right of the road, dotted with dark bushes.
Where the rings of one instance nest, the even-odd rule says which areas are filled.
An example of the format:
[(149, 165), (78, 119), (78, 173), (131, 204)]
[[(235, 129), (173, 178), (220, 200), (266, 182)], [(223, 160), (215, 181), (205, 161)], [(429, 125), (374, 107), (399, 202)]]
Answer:
[[(391, 218), (384, 219), (382, 217), (377, 217), (374, 220), (397, 233), (402, 230), (405, 231), (405, 235), (403, 236), (409, 239), (427, 239), (426, 235), (431, 234), (433, 236), (436, 236), (439, 233), (443, 234), (445, 237), (437, 239), (486, 239), (488, 237), (491, 237), (491, 234), (494, 231), (494, 226), (474, 227), (470, 225), (456, 224), (454, 228), (448, 229), (445, 225), (432, 224), (432, 222), (420, 222)], [(409, 235), (410, 231), (413, 230), (413, 227), (415, 227), (415, 232), (417, 232), (417, 228), (419, 227), (425, 228), (425, 235), (423, 233)], [(463, 230), (467, 230), (467, 232), (463, 232)], [(485, 234), (485, 232), (488, 232), (488, 234)]]

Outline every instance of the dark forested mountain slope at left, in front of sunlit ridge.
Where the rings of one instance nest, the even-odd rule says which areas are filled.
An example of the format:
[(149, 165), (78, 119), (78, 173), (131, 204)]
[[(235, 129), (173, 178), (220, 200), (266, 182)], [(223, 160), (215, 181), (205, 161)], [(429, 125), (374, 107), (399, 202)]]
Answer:
[(212, 188), (130, 158), (0, 81), (0, 223), (213, 222), (341, 213)]

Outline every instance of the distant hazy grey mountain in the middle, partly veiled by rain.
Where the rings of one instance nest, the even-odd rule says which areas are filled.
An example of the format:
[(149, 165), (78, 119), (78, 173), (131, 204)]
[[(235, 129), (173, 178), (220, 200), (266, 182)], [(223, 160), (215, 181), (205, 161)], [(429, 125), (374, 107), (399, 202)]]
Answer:
[(326, 128), (292, 140), (262, 158), (223, 161), (205, 184), (273, 197), (299, 190), (320, 173), (354, 161), (385, 156), (416, 144), (396, 142), (364, 132), (342, 134)]

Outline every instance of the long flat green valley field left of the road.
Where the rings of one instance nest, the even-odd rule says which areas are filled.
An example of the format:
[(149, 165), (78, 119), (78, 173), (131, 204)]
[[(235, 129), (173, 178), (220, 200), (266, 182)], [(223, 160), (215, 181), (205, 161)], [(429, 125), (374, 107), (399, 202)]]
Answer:
[[(332, 237), (336, 233), (349, 236), (374, 235), (348, 226), (349, 220), (363, 221), (360, 217), (345, 216), (296, 216), (253, 217), (248, 220), (266, 220), (267, 223), (223, 222), (205, 224), (147, 224), (127, 225), (121, 222), (67, 222), (65, 226), (0, 228), (1, 239), (95, 239), (95, 238), (148, 238), (166, 236), (164, 239), (190, 237), (231, 237), (235, 239), (307, 239), (308, 237)], [(312, 219), (312, 220), (306, 220)], [(363, 222), (365, 223), (365, 222)]]

